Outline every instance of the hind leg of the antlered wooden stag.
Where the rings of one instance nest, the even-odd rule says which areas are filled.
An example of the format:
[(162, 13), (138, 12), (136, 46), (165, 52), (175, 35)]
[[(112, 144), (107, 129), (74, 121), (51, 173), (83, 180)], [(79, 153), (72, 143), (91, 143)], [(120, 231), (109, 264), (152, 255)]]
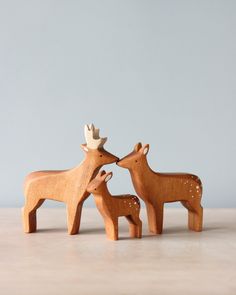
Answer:
[(22, 208), (23, 228), (25, 233), (33, 233), (37, 230), (37, 209), (45, 200), (27, 199), (25, 206)]

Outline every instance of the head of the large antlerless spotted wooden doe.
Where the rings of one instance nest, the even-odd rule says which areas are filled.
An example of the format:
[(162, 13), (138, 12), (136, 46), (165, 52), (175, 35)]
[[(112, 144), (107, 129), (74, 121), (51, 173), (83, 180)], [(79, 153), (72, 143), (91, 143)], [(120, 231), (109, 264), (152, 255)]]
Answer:
[(149, 144), (142, 145), (139, 142), (134, 146), (134, 150), (130, 154), (117, 162), (117, 165), (127, 169), (136, 169), (146, 161), (148, 151)]

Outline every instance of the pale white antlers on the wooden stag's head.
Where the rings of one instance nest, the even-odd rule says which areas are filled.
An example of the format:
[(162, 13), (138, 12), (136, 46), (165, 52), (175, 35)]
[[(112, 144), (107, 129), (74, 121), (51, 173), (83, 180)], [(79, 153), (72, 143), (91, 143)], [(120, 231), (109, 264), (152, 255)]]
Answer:
[(90, 149), (102, 148), (107, 138), (100, 138), (99, 129), (95, 128), (93, 124), (84, 126), (84, 136), (86, 139), (87, 147)]

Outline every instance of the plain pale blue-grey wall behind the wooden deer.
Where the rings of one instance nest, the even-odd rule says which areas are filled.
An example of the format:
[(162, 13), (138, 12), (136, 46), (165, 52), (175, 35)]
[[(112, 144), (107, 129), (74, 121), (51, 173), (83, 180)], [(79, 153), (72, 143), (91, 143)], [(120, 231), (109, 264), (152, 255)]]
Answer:
[[(0, 1), (0, 205), (33, 170), (83, 158), (83, 125), (154, 170), (189, 171), (235, 207), (236, 1)], [(133, 192), (115, 165), (113, 193)], [(56, 203), (48, 202), (47, 206)], [(86, 202), (93, 206), (93, 198)]]

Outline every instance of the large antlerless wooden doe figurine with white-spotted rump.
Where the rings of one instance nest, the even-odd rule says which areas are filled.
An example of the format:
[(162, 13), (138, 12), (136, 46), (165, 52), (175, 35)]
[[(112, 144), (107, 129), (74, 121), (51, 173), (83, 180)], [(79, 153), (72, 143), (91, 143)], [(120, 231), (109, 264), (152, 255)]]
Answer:
[(154, 172), (147, 162), (148, 151), (148, 144), (142, 146), (138, 143), (130, 154), (117, 162), (117, 165), (129, 170), (135, 191), (145, 202), (149, 230), (161, 234), (164, 203), (180, 201), (188, 209), (189, 229), (201, 231), (203, 208), (200, 179), (188, 173)]

